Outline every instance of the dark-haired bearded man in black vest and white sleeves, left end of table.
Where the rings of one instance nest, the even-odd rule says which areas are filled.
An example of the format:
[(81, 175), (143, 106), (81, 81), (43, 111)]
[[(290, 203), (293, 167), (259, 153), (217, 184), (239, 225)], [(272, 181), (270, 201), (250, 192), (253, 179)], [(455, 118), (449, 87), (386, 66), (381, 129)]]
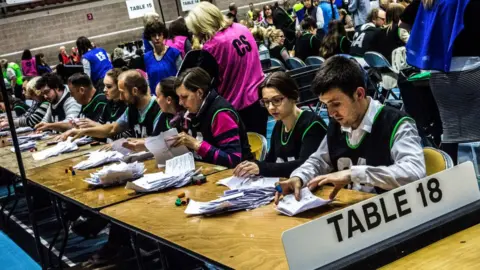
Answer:
[(78, 117), (81, 105), (71, 96), (62, 79), (56, 74), (47, 73), (36, 83), (46, 101), (50, 103), (42, 122), (35, 126), (38, 131), (66, 131), (72, 128), (70, 123)]

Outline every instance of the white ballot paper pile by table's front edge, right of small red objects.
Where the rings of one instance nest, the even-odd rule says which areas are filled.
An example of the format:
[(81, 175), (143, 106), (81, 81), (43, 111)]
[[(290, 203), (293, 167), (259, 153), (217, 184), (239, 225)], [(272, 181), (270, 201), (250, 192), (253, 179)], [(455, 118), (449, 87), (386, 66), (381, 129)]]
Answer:
[(91, 173), (85, 182), (93, 186), (111, 186), (124, 183), (127, 180), (142, 177), (145, 172), (143, 163), (118, 163), (103, 167), (100, 171)]

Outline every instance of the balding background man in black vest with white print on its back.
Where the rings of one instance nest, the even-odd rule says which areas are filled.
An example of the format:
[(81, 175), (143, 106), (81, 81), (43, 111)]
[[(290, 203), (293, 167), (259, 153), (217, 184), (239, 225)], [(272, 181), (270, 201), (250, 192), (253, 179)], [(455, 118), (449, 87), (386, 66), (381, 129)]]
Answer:
[(351, 55), (363, 57), (365, 52), (370, 51), (375, 36), (385, 24), (385, 11), (374, 8), (368, 14), (367, 20), (368, 23), (362, 25), (353, 36), (353, 42), (350, 45)]

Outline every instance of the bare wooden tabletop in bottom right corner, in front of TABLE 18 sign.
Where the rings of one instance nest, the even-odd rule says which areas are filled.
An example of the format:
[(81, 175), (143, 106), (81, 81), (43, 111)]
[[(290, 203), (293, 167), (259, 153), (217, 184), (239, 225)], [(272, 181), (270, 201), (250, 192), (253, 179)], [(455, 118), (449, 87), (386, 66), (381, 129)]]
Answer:
[(448, 236), (381, 269), (480, 269), (480, 224)]

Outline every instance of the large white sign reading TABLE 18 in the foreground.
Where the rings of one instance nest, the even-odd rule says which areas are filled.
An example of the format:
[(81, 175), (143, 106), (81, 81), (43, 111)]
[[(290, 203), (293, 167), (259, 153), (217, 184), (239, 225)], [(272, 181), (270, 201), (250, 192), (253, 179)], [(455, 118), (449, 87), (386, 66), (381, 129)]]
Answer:
[(285, 231), (288, 265), (327, 265), (479, 199), (473, 164), (463, 163)]

